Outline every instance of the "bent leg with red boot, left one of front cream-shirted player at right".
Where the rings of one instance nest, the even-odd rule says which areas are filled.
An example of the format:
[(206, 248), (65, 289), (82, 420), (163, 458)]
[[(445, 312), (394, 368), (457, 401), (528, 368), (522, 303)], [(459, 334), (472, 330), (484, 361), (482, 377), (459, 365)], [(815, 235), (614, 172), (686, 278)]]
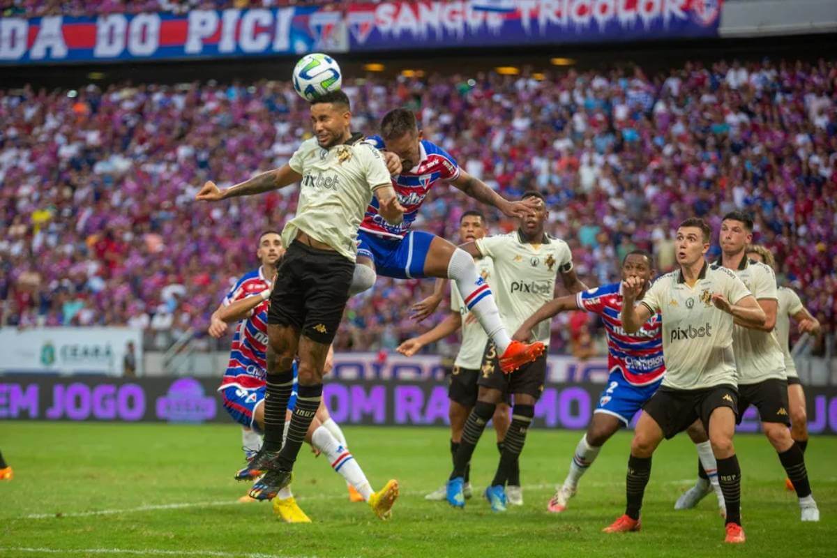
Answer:
[(605, 527), (603, 529), (605, 533), (627, 533), (642, 528), (642, 523), (639, 520), (639, 510), (642, 509), (645, 486), (648, 485), (648, 479), (651, 477), (651, 456), (654, 455), (663, 438), (663, 430), (660, 425), (650, 414), (642, 413), (639, 422), (636, 424), (634, 439), (630, 445), (628, 475), (625, 479), (627, 499), (625, 513), (614, 523)]

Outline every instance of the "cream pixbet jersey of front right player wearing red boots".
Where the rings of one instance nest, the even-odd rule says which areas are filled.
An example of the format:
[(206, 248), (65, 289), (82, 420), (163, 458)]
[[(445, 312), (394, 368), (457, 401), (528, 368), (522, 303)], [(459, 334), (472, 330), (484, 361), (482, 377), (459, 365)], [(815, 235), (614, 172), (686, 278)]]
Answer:
[(704, 264), (693, 287), (678, 269), (657, 279), (640, 300), (663, 320), (663, 386), (692, 390), (737, 385), (732, 315), (712, 304), (715, 293), (733, 305), (750, 295), (732, 271)]

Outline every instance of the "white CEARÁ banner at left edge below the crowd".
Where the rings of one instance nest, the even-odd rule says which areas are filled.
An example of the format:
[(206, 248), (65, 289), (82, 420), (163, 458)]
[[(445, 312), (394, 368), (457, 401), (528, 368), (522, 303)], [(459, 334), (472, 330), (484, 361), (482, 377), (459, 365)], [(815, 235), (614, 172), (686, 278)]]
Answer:
[(142, 330), (130, 327), (0, 329), (0, 371), (121, 376), (133, 343), (141, 374)]

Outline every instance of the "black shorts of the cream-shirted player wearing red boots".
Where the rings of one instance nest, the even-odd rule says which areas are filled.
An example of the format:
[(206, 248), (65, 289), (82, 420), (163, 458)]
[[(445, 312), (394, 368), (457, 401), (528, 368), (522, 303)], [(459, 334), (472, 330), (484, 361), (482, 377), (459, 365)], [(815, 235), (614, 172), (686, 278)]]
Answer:
[(642, 410), (653, 418), (665, 435), (674, 438), (698, 418), (709, 432), (709, 417), (718, 407), (730, 407), (738, 415), (738, 393), (728, 385), (706, 387), (696, 390), (678, 390), (660, 386), (642, 406)]

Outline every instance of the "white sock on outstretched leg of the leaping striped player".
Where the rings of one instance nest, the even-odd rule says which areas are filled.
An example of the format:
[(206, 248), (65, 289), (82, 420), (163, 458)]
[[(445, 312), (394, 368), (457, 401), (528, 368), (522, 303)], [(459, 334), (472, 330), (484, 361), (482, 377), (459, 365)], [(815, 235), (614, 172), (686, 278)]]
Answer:
[(482, 329), (494, 341), (497, 356), (501, 356), (511, 344), (511, 337), (500, 319), (500, 310), (497, 310), (494, 295), (491, 294), (485, 280), (477, 273), (470, 253), (462, 248), (454, 250), (448, 264), (448, 277), (454, 280), (465, 306), (474, 313)]

